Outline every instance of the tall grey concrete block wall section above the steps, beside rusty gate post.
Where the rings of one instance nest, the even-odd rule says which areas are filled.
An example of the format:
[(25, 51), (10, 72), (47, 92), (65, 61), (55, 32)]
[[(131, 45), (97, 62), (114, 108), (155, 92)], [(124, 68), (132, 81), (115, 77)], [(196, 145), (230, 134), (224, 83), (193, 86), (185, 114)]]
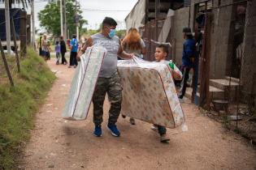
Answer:
[[(214, 7), (218, 6), (214, 3)], [(232, 3), (232, 0), (222, 1), (222, 4)], [(228, 55), (232, 49), (229, 44), (229, 32), (232, 22), (232, 6), (225, 6), (213, 10), (211, 28), (211, 55), (210, 55), (210, 79), (223, 79), (226, 73)]]

